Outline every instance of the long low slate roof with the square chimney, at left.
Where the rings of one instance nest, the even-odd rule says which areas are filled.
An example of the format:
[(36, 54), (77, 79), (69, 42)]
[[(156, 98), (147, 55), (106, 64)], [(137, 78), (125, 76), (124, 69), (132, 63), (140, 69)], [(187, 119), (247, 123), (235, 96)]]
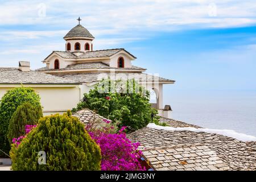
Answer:
[(18, 68), (0, 68), (0, 84), (79, 84), (79, 82), (37, 71), (22, 72)]

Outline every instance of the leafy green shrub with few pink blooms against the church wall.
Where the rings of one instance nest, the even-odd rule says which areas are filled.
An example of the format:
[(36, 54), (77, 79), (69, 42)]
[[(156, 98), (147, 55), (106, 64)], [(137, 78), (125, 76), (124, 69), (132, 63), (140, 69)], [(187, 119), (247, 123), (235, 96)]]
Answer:
[[(113, 91), (110, 85), (114, 86), (115, 92), (110, 92)], [(83, 101), (72, 111), (86, 107), (112, 121), (120, 121), (122, 126), (129, 126), (130, 130), (138, 130), (151, 122), (151, 113), (158, 113), (156, 109), (152, 109), (149, 101), (149, 92), (135, 80), (106, 79), (89, 93), (85, 93)], [(157, 119), (154, 118), (155, 120)]]

